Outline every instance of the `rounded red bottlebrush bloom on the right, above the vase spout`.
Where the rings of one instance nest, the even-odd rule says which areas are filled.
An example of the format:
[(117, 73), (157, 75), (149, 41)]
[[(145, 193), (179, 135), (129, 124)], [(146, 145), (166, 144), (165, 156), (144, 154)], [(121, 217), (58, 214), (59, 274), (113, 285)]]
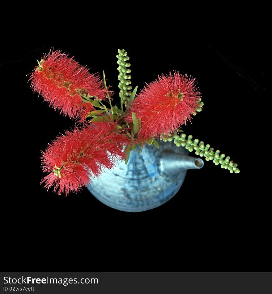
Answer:
[(139, 140), (148, 140), (159, 134), (169, 134), (190, 120), (198, 105), (200, 92), (194, 85), (195, 79), (171, 72), (168, 76), (159, 76), (141, 91), (132, 102), (129, 110), (141, 119)]

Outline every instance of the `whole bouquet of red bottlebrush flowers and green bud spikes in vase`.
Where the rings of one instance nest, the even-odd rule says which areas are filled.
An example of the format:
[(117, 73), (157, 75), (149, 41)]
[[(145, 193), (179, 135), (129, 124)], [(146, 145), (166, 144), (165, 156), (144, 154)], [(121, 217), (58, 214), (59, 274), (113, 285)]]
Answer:
[(231, 173), (240, 172), (225, 154), (193, 140), (191, 135), (186, 137), (180, 129), (191, 122), (191, 115), (202, 110), (195, 79), (170, 72), (136, 94), (137, 87), (131, 92), (127, 52), (119, 49), (117, 58), (121, 109), (112, 104), (113, 92), (106, 85), (105, 75), (100, 79), (59, 50), (44, 55), (34, 68), (31, 88), (49, 106), (76, 120), (73, 131), (57, 137), (42, 152), (43, 171), (48, 173), (42, 179), (46, 188), (52, 186), (65, 195), (78, 192), (105, 169), (113, 168), (121, 160), (127, 162), (137, 144), (142, 148), (146, 144), (159, 148), (158, 140), (174, 141), (177, 147), (195, 151)]

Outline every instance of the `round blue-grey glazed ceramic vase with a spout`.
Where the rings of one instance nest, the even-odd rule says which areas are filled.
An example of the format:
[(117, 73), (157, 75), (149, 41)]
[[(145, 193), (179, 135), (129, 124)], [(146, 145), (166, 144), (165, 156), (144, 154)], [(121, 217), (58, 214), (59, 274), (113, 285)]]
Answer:
[(173, 142), (159, 142), (159, 149), (155, 145), (137, 145), (127, 164), (122, 161), (99, 179), (92, 179), (87, 187), (112, 208), (145, 211), (171, 199), (181, 188), (187, 170), (203, 164), (202, 159), (188, 156), (185, 148)]

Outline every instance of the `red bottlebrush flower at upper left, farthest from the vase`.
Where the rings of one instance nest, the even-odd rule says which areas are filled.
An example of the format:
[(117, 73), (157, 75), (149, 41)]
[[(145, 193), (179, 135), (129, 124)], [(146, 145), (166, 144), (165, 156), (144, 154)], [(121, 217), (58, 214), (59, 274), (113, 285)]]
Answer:
[(49, 101), (49, 106), (61, 110), (71, 119), (84, 120), (93, 109), (91, 102), (84, 102), (83, 99), (106, 97), (102, 80), (59, 50), (44, 55), (30, 81), (31, 88), (42, 94), (44, 100)]

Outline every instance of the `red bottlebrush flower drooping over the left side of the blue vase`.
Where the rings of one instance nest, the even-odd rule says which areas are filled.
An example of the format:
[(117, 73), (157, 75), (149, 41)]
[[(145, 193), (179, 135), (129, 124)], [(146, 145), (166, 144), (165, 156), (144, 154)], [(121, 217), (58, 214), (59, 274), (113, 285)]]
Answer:
[(53, 186), (65, 195), (78, 192), (91, 182), (90, 177), (125, 159), (123, 145), (129, 145), (130, 139), (117, 126), (116, 122), (96, 122), (57, 137), (42, 152), (43, 171), (49, 172), (42, 179), (45, 187)]

